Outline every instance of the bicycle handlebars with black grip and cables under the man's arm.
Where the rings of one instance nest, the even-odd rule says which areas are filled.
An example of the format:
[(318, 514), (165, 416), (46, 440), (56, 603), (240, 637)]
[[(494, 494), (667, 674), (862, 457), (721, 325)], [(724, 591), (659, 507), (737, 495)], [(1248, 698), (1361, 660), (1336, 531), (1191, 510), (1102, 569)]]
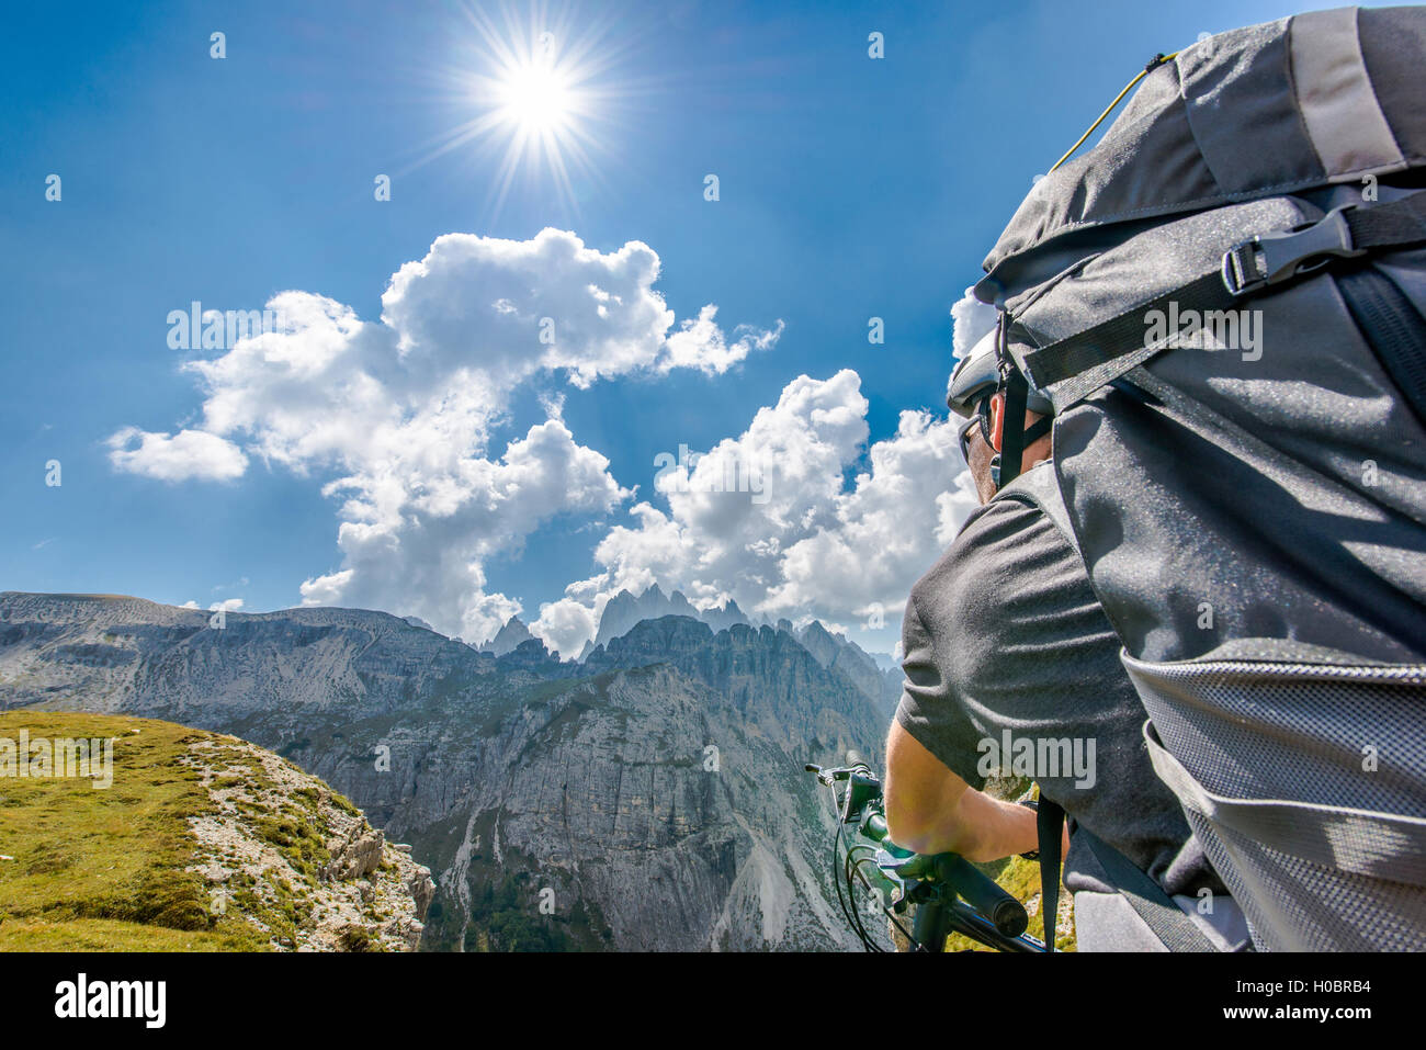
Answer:
[[(856, 906), (856, 882), (880, 894), (863, 875), (871, 865), (877, 875), (894, 887), (890, 906), (880, 904), (891, 926), (901, 933), (911, 952), (944, 952), (945, 939), (960, 933), (997, 952), (1045, 952), (1045, 943), (1025, 933), (1030, 916), (1025, 906), (995, 885), (980, 869), (958, 853), (920, 855), (901, 849), (887, 837), (886, 810), (881, 803), (881, 780), (864, 762), (824, 769), (807, 763), (819, 783), (831, 790), (837, 809), (837, 835), (831, 843), (833, 883), (841, 914), (868, 952), (886, 952), (867, 933)], [(838, 785), (846, 790), (838, 793)], [(857, 832), (870, 839), (851, 843), (840, 860), (843, 827), (856, 825)], [(870, 856), (868, 856), (870, 855)], [(843, 894), (846, 883), (846, 896)], [(850, 906), (848, 906), (850, 900)], [(908, 932), (898, 916), (915, 907)]]

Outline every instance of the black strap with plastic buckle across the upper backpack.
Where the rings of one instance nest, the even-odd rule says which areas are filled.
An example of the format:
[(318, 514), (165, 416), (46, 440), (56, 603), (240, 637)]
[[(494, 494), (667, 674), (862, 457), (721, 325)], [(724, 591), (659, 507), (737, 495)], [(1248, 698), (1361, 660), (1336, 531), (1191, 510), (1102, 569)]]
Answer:
[[(1144, 345), (1144, 317), (1169, 311), (1176, 302), (1188, 310), (1226, 310), (1248, 295), (1283, 284), (1339, 258), (1368, 251), (1400, 248), (1426, 241), (1426, 191), (1389, 204), (1346, 205), (1293, 230), (1259, 234), (1224, 254), (1224, 265), (1158, 298), (1128, 310), (1082, 332), (1032, 350), (1025, 369), (1041, 389), (1054, 389), (1055, 408), (1064, 411), (1101, 387), (1114, 382), (1162, 350), (1175, 345), (1176, 332), (1159, 345)], [(1070, 382), (1078, 378), (1077, 382)]]

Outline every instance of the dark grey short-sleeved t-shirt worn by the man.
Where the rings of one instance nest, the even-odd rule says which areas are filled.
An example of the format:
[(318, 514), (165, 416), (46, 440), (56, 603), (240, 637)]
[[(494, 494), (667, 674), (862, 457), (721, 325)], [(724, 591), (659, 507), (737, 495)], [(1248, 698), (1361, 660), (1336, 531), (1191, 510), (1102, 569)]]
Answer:
[[(1024, 772), (1015, 763), (1028, 760), (1030, 740), (1040, 760), (1034, 779), (1075, 823), (1169, 894), (1224, 892), (1154, 775), (1144, 708), (1079, 555), (1042, 511), (1015, 499), (975, 511), (911, 589), (901, 641), (897, 722), (971, 788), (1001, 760)], [(1068, 749), (1041, 745), (1067, 739)], [(1054, 762), (1060, 776), (1050, 775)], [(1065, 887), (1112, 889), (1072, 829)]]

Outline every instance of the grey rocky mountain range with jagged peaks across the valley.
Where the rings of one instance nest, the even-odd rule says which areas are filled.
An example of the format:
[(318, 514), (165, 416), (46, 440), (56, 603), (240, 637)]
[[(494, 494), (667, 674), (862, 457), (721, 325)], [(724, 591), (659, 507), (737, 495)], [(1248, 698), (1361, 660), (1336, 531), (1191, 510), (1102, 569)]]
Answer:
[(886, 713), (791, 632), (636, 623), (583, 665), (379, 612), (0, 595), (0, 708), (234, 733), (436, 876), (429, 949), (850, 946), (801, 766), (880, 762)]

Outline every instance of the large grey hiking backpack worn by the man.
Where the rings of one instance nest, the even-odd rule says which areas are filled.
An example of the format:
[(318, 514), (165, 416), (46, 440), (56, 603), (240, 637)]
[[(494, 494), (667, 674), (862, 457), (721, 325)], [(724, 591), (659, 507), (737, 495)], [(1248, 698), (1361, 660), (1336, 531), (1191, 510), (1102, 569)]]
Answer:
[(1423, 7), (1152, 63), (975, 288), (1261, 950), (1426, 949), (1423, 83)]

